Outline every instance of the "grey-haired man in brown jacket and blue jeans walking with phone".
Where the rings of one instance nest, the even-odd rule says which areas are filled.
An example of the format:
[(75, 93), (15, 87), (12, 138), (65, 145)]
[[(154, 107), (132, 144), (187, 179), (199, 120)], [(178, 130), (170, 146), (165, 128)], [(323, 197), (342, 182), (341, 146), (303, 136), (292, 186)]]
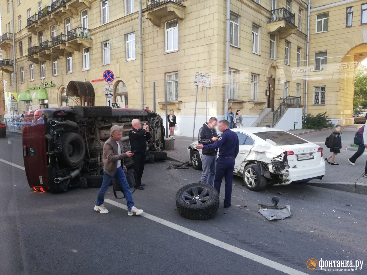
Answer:
[(143, 213), (143, 210), (138, 209), (134, 206), (134, 201), (132, 201), (132, 195), (129, 183), (126, 180), (125, 172), (126, 167), (121, 167), (121, 159), (126, 157), (131, 158), (134, 154), (131, 151), (126, 153), (122, 152), (123, 145), (121, 143), (122, 128), (118, 125), (113, 125), (110, 129), (111, 136), (105, 142), (103, 146), (103, 182), (101, 188), (99, 188), (97, 202), (95, 203), (94, 210), (101, 214), (108, 213), (108, 210), (103, 205), (105, 199), (105, 193), (110, 185), (110, 182), (115, 178), (122, 190), (124, 191), (128, 215), (132, 216), (135, 212), (136, 215)]

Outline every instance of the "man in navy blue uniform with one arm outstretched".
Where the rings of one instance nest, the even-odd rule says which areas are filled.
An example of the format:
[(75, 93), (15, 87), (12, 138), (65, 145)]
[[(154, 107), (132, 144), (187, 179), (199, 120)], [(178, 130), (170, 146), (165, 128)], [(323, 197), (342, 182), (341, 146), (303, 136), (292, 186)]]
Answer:
[(217, 189), (219, 193), (219, 191), (221, 190), (223, 176), (225, 176), (225, 208), (228, 208), (230, 206), (230, 198), (232, 195), (233, 170), (235, 169), (235, 158), (237, 157), (237, 154), (240, 150), (238, 136), (235, 132), (232, 132), (228, 128), (228, 125), (229, 123), (226, 120), (219, 121), (218, 129), (222, 132), (222, 135), (219, 137), (218, 141), (212, 144), (198, 144), (196, 146), (197, 149), (219, 148), (217, 169), (215, 171), (214, 188)]

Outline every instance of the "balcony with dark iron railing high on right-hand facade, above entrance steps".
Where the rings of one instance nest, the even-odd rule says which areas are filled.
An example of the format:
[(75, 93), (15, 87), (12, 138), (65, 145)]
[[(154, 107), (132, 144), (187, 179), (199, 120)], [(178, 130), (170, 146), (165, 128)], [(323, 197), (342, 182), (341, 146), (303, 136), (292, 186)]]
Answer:
[(267, 26), (268, 33), (276, 34), (280, 39), (287, 38), (297, 30), (294, 18), (295, 15), (286, 8), (271, 10)]

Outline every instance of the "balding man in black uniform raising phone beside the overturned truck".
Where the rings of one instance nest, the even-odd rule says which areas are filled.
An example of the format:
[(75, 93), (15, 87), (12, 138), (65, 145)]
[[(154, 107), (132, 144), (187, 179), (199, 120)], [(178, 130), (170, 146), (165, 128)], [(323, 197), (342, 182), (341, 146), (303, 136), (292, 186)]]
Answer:
[[(137, 182), (135, 188), (143, 190), (145, 184), (141, 183), (141, 177), (144, 172), (146, 141), (150, 139), (148, 124), (144, 123), (141, 126), (141, 121), (134, 118), (131, 121), (132, 129), (129, 132), (129, 140), (131, 151), (134, 153), (132, 159), (134, 160), (134, 172), (137, 174)], [(143, 129), (141, 129), (143, 128)]]

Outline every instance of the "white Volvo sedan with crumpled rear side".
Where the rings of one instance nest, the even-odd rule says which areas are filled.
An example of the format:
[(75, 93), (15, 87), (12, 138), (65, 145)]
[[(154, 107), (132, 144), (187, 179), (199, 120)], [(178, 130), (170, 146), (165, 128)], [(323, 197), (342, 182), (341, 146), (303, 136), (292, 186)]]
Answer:
[[(262, 127), (232, 129), (239, 140), (234, 174), (243, 177), (250, 190), (266, 185), (285, 185), (322, 179), (325, 175), (323, 148), (291, 133)], [(201, 169), (197, 142), (188, 150), (194, 169)]]

